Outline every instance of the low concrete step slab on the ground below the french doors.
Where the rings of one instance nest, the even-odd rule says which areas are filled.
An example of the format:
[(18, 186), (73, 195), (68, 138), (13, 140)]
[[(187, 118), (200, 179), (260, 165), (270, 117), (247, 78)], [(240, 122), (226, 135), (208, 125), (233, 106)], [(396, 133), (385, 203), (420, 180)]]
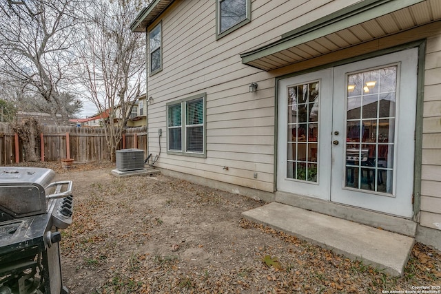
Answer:
[(242, 214), (395, 276), (402, 275), (415, 242), (404, 235), (278, 202)]

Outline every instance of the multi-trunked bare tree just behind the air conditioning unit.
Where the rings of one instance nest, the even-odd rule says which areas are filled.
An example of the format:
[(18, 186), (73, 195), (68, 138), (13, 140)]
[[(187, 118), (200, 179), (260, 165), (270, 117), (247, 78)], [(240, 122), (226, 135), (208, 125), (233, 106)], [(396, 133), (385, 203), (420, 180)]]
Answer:
[(109, 116), (103, 127), (112, 161), (136, 98), (145, 91), (145, 36), (130, 32), (142, 2), (95, 1), (83, 10), (83, 41), (76, 43), (85, 98)]

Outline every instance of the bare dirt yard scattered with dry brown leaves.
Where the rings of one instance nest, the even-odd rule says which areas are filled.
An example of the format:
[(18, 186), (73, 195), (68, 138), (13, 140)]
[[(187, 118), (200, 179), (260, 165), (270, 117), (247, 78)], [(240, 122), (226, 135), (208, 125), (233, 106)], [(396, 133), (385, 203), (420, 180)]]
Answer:
[[(441, 293), (441, 254), (416, 244), (403, 277), (243, 220), (263, 202), (161, 174), (116, 178), (109, 163), (40, 164), (74, 181), (62, 231), (70, 293)], [(404, 293), (404, 292), (402, 292)], [(429, 293), (429, 292), (427, 292)]]

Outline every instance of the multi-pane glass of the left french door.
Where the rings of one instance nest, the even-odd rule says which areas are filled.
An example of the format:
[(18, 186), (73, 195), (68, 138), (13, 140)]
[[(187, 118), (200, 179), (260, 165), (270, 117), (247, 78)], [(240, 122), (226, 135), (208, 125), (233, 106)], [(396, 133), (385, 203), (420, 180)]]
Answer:
[(287, 178), (317, 182), (318, 81), (288, 87)]

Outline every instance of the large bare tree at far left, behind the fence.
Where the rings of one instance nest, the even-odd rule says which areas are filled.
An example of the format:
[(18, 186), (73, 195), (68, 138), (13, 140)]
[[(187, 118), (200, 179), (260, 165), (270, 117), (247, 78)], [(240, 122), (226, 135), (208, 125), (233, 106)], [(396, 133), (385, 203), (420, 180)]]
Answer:
[(68, 122), (63, 89), (72, 82), (72, 0), (2, 1), (0, 74), (3, 87), (44, 99), (50, 114)]

